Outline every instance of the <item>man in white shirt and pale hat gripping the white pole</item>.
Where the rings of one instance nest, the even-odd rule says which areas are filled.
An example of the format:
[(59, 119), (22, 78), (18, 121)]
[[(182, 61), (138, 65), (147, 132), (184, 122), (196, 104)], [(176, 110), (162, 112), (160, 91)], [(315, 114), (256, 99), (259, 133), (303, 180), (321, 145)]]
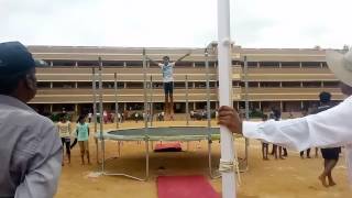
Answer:
[[(348, 96), (340, 105), (317, 114), (285, 121), (246, 122), (230, 107), (219, 109), (219, 124), (233, 133), (264, 140), (298, 151), (308, 147), (339, 147), (352, 142), (352, 51), (341, 54), (327, 51), (327, 62), (340, 79), (341, 91)], [(352, 146), (346, 146), (349, 175), (352, 182)], [(321, 180), (326, 183), (324, 179)]]

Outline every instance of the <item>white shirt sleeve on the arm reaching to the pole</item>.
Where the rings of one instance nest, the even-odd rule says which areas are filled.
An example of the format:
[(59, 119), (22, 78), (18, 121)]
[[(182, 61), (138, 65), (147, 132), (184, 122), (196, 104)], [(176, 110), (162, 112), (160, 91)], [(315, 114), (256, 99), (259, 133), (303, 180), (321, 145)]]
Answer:
[(305, 118), (264, 123), (243, 122), (243, 135), (298, 151), (341, 146), (352, 142), (352, 98)]

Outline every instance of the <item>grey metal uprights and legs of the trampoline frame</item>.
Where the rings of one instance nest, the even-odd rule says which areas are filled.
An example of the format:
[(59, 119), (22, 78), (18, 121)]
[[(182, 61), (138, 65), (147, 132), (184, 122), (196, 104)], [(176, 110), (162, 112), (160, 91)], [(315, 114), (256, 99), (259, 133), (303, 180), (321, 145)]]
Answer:
[[(146, 87), (146, 55), (145, 55), (145, 50), (143, 48), (143, 78), (144, 78), (144, 81), (143, 81), (143, 88), (144, 88), (144, 139), (141, 139), (141, 138), (136, 138), (135, 140), (130, 140), (130, 141), (144, 141), (145, 142), (145, 177), (144, 178), (140, 178), (140, 177), (136, 177), (136, 176), (132, 176), (132, 175), (129, 175), (129, 174), (124, 174), (124, 173), (107, 173), (105, 170), (106, 168), (106, 162), (111, 160), (111, 158), (108, 158), (106, 160), (105, 158), (105, 139), (107, 138), (105, 134), (107, 133), (103, 133), (103, 125), (102, 125), (102, 61), (101, 61), (101, 57), (99, 57), (98, 62), (99, 62), (99, 73), (98, 73), (98, 82), (99, 82), (99, 111), (100, 111), (100, 130), (99, 130), (99, 133), (97, 133), (97, 127), (95, 127), (95, 131), (96, 131), (96, 140), (97, 140), (97, 151), (99, 151), (99, 145), (98, 145), (98, 141), (100, 140), (100, 145), (101, 145), (101, 151), (102, 151), (102, 156), (101, 156), (101, 174), (102, 175), (108, 175), (108, 176), (124, 176), (124, 177), (128, 177), (128, 178), (132, 178), (132, 179), (136, 179), (136, 180), (141, 180), (141, 182), (146, 182), (148, 179), (148, 175), (150, 175), (150, 141), (151, 141), (151, 145), (153, 147), (153, 142), (154, 141), (185, 141), (187, 142), (187, 147), (188, 147), (188, 144), (190, 141), (201, 141), (201, 140), (207, 140), (208, 141), (208, 168), (209, 168), (209, 176), (210, 178), (219, 178), (221, 177), (220, 174), (218, 175), (215, 175), (213, 172), (212, 172), (212, 157), (211, 157), (211, 144), (212, 144), (212, 136), (210, 134), (210, 128), (211, 128), (211, 123), (210, 123), (210, 91), (209, 91), (209, 62), (208, 62), (208, 51), (206, 50), (205, 51), (205, 59), (206, 59), (206, 67), (207, 67), (207, 120), (208, 120), (208, 125), (207, 127), (201, 127), (201, 128), (205, 128), (205, 130), (208, 131), (207, 134), (205, 135), (198, 135), (197, 138), (193, 138), (193, 139), (183, 139), (183, 140), (177, 140), (177, 139), (174, 139), (174, 140), (166, 140), (166, 139), (152, 139), (150, 140), (150, 138), (147, 136), (147, 130), (151, 129), (148, 128), (148, 124), (147, 124), (147, 87)], [(187, 75), (185, 77), (185, 81), (186, 81), (186, 106), (188, 107), (188, 78), (187, 78)], [(92, 89), (94, 89), (94, 110), (96, 110), (96, 106), (97, 106), (97, 102), (96, 102), (96, 74), (95, 74), (95, 68), (92, 69), (92, 82), (94, 82), (94, 86), (92, 86)], [(114, 74), (114, 82), (117, 84), (117, 74)], [(153, 84), (153, 80), (152, 80), (152, 76), (151, 76), (151, 85)], [(114, 85), (116, 89), (117, 89), (117, 85)], [(151, 97), (152, 98), (152, 97)], [(117, 100), (117, 90), (116, 90), (116, 100)], [(118, 101), (116, 101), (117, 103)], [(151, 108), (150, 108), (151, 109)], [(186, 108), (188, 109), (188, 108)], [(95, 125), (97, 125), (96, 123), (96, 118), (97, 118), (97, 110), (94, 112), (94, 119), (95, 119)], [(187, 128), (191, 128), (194, 125), (189, 125), (189, 121), (188, 121), (188, 112), (187, 112), (187, 120), (186, 120), (186, 123), (187, 123)], [(151, 124), (152, 125), (152, 124)], [(199, 128), (199, 127), (198, 127)], [(125, 130), (125, 129), (124, 129)], [(109, 138), (108, 138), (109, 139)], [(110, 139), (111, 140), (111, 139)], [(114, 139), (116, 140), (116, 139)], [(220, 135), (217, 140), (220, 140)], [(121, 144), (121, 141), (122, 140), (118, 140), (118, 150), (119, 150), (119, 156), (120, 157), (120, 144)], [(246, 144), (248, 146), (248, 144)], [(97, 152), (97, 160), (99, 158), (99, 155), (98, 155), (99, 152)], [(248, 155), (248, 151), (246, 151), (246, 155)], [(248, 157), (248, 156), (246, 156)], [(117, 158), (117, 157), (112, 157), (112, 158)], [(246, 160), (246, 158), (245, 158)], [(98, 160), (99, 162), (99, 160)], [(248, 163), (246, 163), (246, 166), (248, 166)]]

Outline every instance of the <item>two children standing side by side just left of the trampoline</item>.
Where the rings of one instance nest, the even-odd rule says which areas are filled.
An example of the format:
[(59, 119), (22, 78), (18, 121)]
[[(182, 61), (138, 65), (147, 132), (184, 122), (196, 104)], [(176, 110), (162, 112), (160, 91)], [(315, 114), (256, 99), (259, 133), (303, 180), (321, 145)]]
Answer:
[[(86, 117), (80, 116), (77, 120), (76, 129), (73, 131), (73, 124), (67, 120), (66, 114), (61, 116), (59, 122), (57, 122), (57, 131), (63, 144), (63, 162), (62, 165), (65, 165), (65, 155), (64, 150), (66, 150), (66, 156), (68, 160), (68, 164), (70, 164), (70, 150), (77, 144), (80, 148), (80, 158), (81, 165), (85, 165), (85, 155), (87, 157), (88, 164), (90, 164), (89, 157), (89, 124), (86, 123)], [(72, 143), (72, 138), (74, 138), (74, 142)]]

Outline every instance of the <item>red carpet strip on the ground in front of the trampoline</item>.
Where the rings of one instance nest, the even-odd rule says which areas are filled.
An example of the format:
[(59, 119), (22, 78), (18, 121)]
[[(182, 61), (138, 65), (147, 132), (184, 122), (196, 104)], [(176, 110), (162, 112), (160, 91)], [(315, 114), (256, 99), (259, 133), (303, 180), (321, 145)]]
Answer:
[(158, 198), (220, 198), (204, 176), (160, 176)]

